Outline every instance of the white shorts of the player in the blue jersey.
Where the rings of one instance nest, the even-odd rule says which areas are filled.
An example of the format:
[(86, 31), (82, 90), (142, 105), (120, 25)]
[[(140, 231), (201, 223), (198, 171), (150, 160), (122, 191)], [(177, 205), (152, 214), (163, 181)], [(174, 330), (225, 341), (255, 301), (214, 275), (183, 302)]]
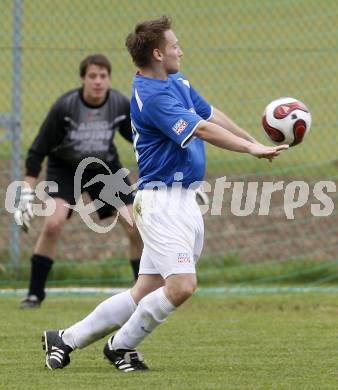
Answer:
[(134, 217), (144, 243), (139, 274), (167, 278), (196, 272), (204, 223), (194, 190), (140, 190)]

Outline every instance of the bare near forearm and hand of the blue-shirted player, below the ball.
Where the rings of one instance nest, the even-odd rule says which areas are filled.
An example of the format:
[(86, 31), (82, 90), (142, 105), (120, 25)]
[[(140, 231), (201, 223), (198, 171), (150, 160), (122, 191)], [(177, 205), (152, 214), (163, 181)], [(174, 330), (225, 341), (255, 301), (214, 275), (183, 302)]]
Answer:
[(267, 158), (272, 160), (280, 152), (287, 149), (289, 145), (265, 146), (245, 140), (234, 135), (227, 129), (214, 123), (202, 121), (197, 126), (194, 135), (209, 142), (212, 145), (233, 152), (249, 153), (258, 158)]

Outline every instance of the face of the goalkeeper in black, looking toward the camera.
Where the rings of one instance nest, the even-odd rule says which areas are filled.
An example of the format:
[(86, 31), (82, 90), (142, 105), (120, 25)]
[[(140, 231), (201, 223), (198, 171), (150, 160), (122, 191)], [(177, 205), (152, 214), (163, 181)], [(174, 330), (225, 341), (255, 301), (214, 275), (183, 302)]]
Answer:
[(86, 75), (82, 78), (82, 85), (85, 101), (92, 105), (100, 105), (110, 87), (107, 69), (98, 65), (89, 65)]

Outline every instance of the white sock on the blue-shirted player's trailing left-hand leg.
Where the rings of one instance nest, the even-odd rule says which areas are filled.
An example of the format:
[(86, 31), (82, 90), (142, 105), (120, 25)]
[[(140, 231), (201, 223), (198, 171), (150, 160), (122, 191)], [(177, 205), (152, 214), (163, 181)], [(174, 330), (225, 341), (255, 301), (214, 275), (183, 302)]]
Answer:
[(120, 328), (135, 309), (130, 290), (114, 295), (100, 303), (82, 321), (65, 329), (62, 340), (73, 349), (84, 348)]

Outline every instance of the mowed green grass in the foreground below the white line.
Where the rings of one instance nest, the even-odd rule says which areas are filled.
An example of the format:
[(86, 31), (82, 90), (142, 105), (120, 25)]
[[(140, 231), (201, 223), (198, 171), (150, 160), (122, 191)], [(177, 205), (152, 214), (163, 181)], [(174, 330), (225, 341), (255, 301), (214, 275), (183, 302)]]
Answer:
[(84, 317), (104, 297), (49, 297), (21, 311), (0, 299), (0, 389), (337, 389), (338, 303), (329, 294), (195, 296), (140, 347), (151, 371), (122, 374), (105, 341), (44, 368), (41, 333)]

